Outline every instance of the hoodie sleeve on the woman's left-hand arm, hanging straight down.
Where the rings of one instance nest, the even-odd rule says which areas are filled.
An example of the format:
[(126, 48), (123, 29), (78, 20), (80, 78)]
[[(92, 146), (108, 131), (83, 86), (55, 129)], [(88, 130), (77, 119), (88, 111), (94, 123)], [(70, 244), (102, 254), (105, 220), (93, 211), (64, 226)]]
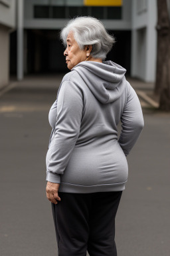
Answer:
[(82, 92), (71, 81), (64, 81), (58, 94), (54, 144), (50, 148), (46, 181), (60, 183), (60, 175), (64, 173), (80, 133), (82, 109)]

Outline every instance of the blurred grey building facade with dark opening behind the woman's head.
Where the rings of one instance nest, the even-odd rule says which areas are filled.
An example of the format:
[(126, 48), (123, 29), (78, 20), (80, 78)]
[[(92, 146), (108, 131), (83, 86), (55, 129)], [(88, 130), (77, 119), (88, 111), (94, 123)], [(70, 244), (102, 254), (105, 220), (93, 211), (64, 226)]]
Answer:
[[(156, 0), (11, 2), (17, 5), (17, 26), (16, 31), (11, 33), (10, 70), (17, 74), (18, 79), (23, 79), (24, 74), (66, 71), (64, 48), (58, 32), (70, 18), (90, 15), (100, 19), (116, 37), (108, 59), (124, 66), (132, 77), (155, 81)], [(17, 54), (13, 51), (14, 45)]]

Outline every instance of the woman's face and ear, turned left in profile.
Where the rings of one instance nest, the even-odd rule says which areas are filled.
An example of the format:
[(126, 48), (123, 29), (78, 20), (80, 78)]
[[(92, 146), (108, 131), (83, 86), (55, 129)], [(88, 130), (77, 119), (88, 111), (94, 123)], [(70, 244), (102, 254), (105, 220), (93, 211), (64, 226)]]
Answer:
[(81, 61), (86, 59), (85, 49), (81, 50), (78, 43), (74, 39), (74, 33), (70, 31), (66, 39), (67, 47), (64, 51), (64, 56), (66, 56), (66, 64), (68, 69), (72, 69)]

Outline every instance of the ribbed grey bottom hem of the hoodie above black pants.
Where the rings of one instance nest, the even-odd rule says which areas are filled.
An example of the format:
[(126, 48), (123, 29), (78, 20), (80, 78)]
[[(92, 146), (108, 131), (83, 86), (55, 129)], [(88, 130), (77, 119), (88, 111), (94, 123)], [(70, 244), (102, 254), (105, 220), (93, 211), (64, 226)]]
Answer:
[(58, 192), (65, 193), (96, 193), (107, 191), (123, 191), (125, 189), (126, 182), (114, 183), (114, 184), (100, 184), (100, 185), (76, 185), (72, 183), (61, 182)]

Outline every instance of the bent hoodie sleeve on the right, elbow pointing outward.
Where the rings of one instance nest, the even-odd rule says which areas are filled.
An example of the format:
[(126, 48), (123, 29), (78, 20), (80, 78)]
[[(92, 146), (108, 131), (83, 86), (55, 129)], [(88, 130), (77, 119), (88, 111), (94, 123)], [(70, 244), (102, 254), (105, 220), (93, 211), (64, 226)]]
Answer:
[(137, 94), (129, 83), (127, 85), (128, 99), (121, 117), (122, 131), (118, 141), (126, 156), (135, 145), (144, 126), (143, 114)]

